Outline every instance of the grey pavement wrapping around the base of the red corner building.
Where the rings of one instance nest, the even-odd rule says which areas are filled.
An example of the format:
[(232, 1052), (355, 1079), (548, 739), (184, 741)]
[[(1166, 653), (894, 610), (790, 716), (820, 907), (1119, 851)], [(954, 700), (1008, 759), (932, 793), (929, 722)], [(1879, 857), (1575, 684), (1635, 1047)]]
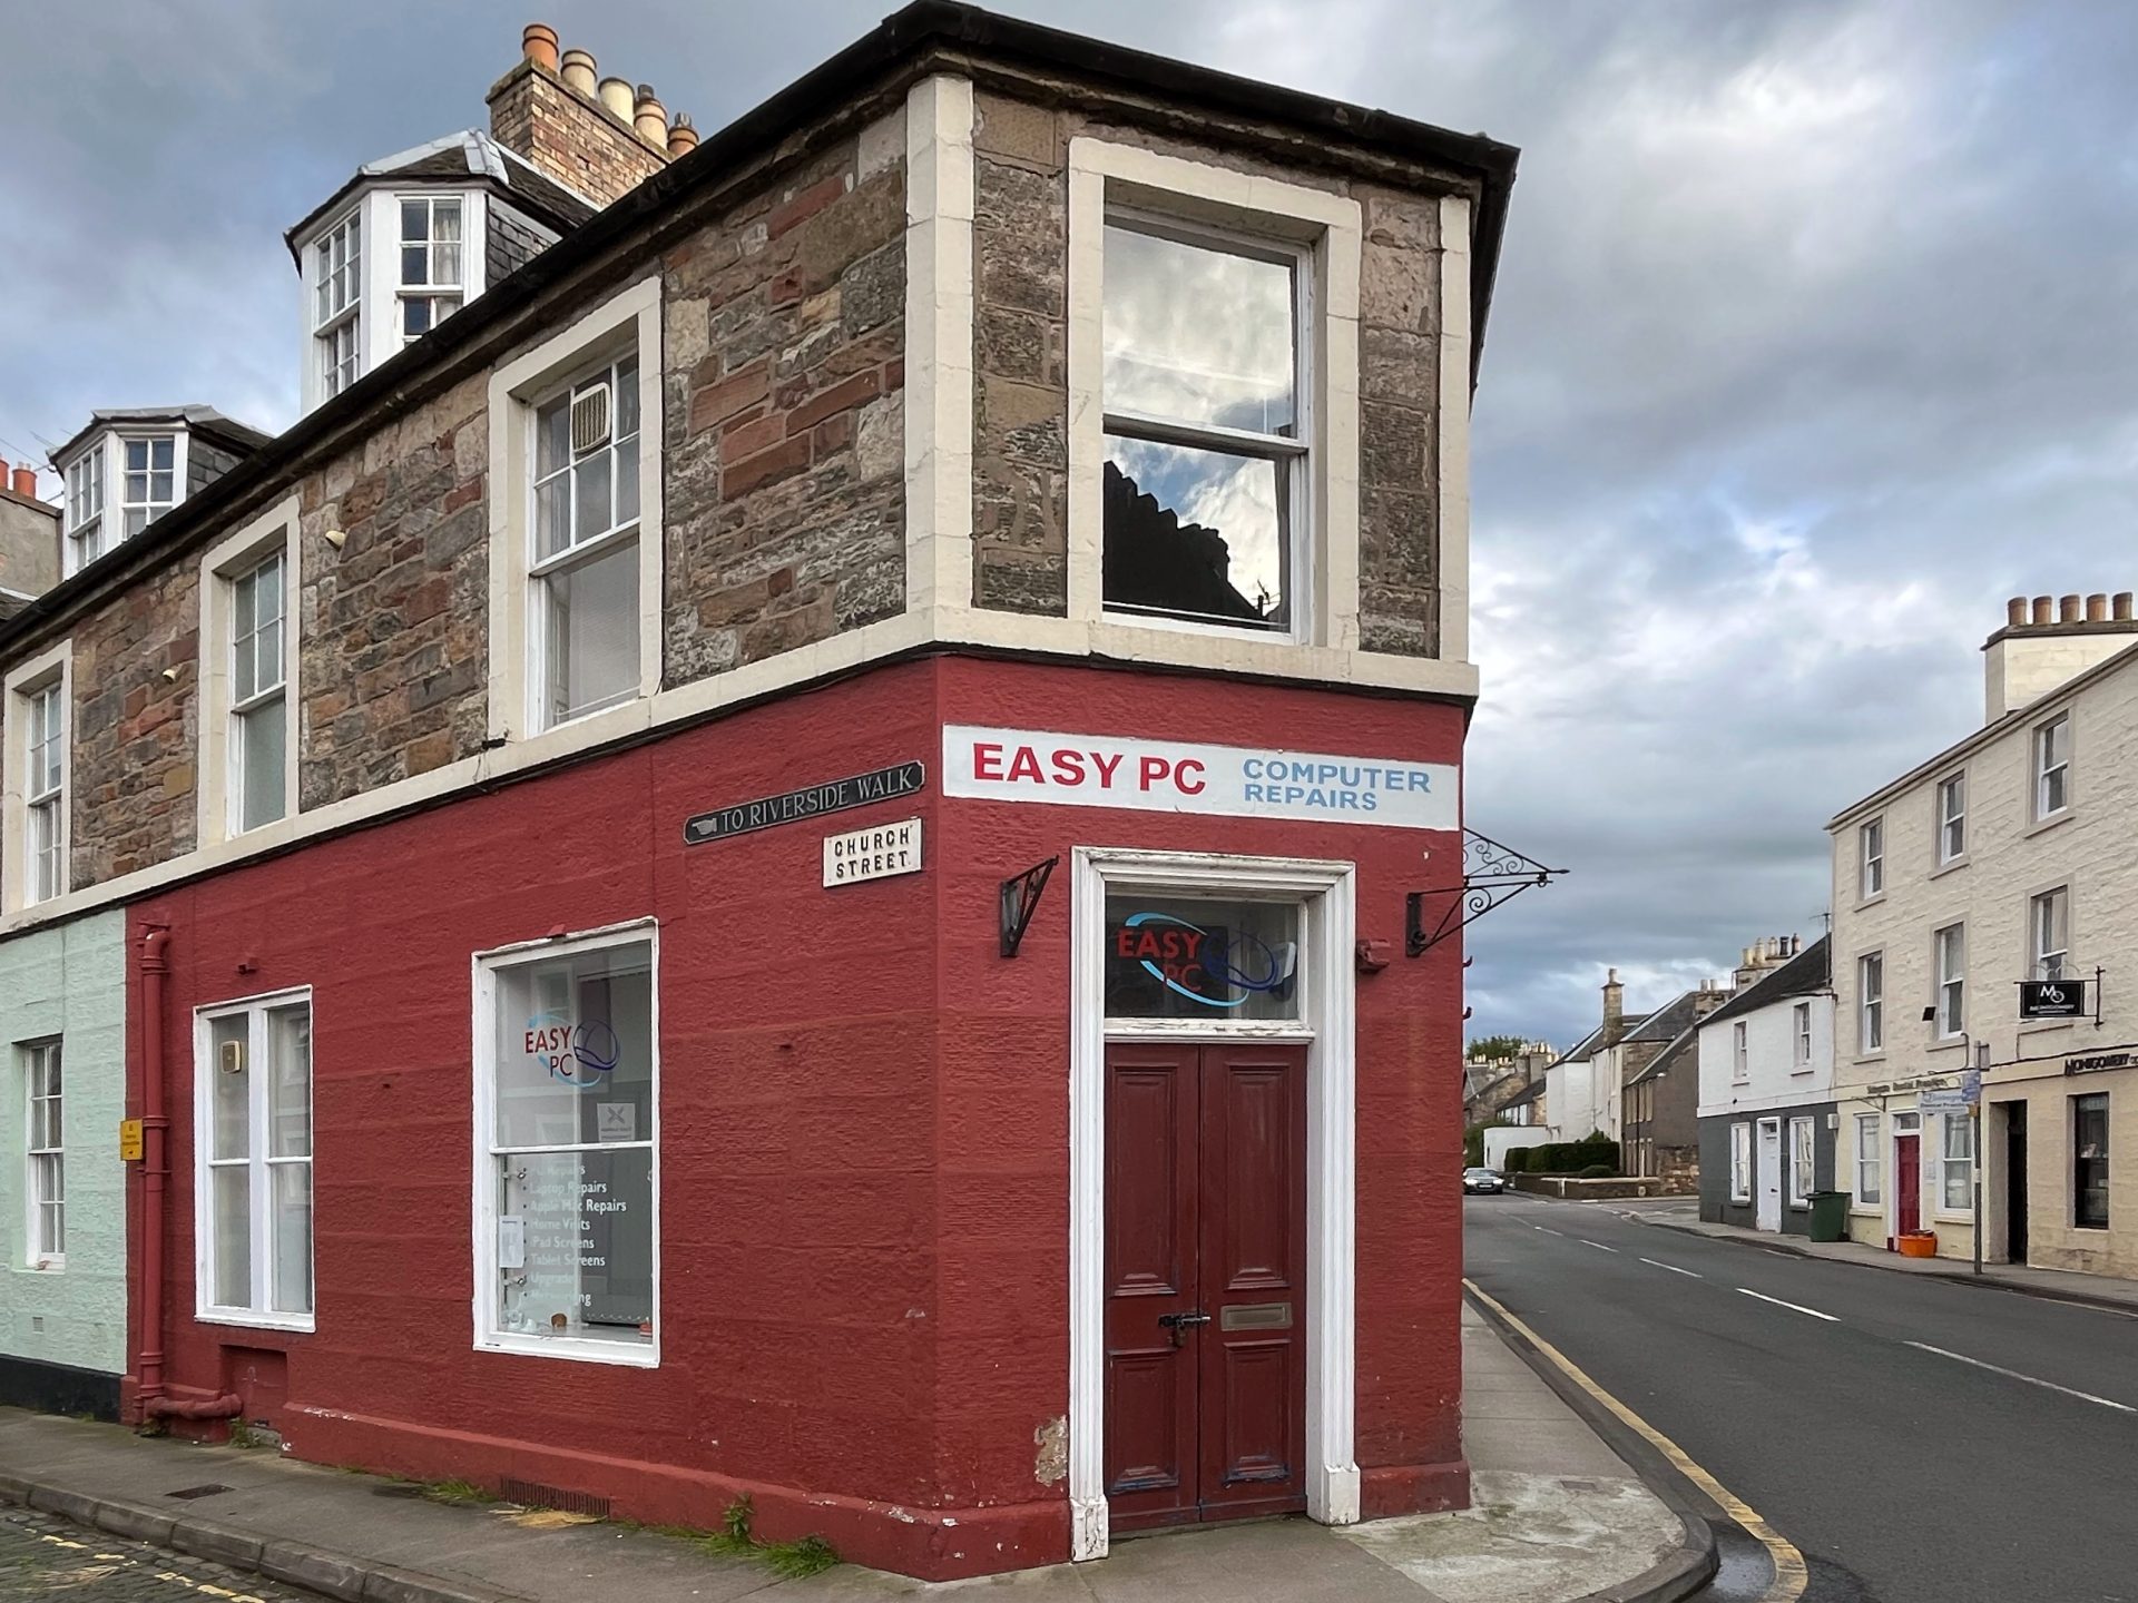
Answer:
[[(0, 1505), (17, 1505), (0, 1507), (0, 1582), (6, 1597), (49, 1590), (68, 1603), (723, 1603), (759, 1592), (859, 1603), (979, 1588), (1026, 1603), (1672, 1603), (1704, 1582), (1715, 1565), (1706, 1524), (1668, 1488), (1651, 1492), (1471, 1308), (1462, 1361), (1473, 1466), (1462, 1513), (1343, 1530), (1208, 1526), (1116, 1541), (1099, 1562), (939, 1586), (855, 1565), (785, 1577), (676, 1535), (451, 1500), (445, 1488), (263, 1447), (0, 1409)], [(186, 1558), (158, 1577), (156, 1556), (169, 1552)]]

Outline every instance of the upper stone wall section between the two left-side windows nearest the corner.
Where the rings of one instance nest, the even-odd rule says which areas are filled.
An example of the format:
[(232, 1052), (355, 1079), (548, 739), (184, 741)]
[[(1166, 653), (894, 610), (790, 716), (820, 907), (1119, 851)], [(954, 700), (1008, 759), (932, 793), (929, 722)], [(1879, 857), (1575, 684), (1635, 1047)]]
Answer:
[(481, 750), (487, 455), (485, 383), (468, 378), (304, 481), (301, 806)]

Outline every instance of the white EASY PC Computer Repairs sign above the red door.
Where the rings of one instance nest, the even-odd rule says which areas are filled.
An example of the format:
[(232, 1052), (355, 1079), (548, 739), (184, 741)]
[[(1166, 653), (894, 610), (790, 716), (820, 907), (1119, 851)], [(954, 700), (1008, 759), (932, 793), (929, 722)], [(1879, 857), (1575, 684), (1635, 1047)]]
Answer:
[(1458, 829), (1456, 787), (1452, 763), (1400, 757), (1039, 729), (943, 729), (943, 795), (994, 802)]

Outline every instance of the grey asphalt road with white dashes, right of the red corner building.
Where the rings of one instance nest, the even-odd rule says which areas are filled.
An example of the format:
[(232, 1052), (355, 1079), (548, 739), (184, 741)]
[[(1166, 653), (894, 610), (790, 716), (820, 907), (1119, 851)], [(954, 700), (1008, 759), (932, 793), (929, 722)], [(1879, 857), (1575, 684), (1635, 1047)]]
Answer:
[(1807, 1603), (2138, 1603), (2138, 1319), (1604, 1203), (1465, 1218), (1467, 1274), (1794, 1541)]

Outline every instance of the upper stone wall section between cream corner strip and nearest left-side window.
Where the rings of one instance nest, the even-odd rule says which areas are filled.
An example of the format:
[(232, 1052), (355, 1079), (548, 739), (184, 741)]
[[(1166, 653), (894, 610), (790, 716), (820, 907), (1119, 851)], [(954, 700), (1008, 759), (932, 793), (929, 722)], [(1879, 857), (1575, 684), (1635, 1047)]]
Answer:
[(859, 141), (667, 254), (669, 686), (904, 611), (904, 295)]

